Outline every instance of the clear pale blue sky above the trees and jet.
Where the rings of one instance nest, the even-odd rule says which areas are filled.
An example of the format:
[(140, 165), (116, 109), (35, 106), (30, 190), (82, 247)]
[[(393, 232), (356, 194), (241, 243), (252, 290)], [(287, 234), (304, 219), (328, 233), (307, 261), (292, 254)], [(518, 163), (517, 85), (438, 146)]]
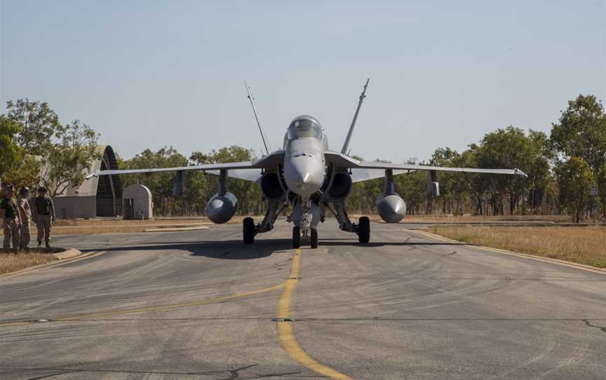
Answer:
[(496, 128), (548, 132), (606, 95), (605, 1), (1, 1), (0, 112), (43, 100), (123, 157), (262, 143), (316, 116), (339, 150), (429, 158)]

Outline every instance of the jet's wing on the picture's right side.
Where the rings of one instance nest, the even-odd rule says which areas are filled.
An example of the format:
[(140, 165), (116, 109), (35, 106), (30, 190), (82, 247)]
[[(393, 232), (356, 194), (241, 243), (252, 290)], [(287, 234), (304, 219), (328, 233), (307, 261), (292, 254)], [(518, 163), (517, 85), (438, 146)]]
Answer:
[[(506, 175), (520, 175), (522, 177), (527, 177), (526, 173), (520, 169), (481, 169), (481, 168), (448, 168), (444, 166), (426, 166), (426, 165), (415, 165), (409, 163), (383, 163), (383, 162), (365, 162), (358, 161), (355, 158), (351, 158), (349, 156), (345, 156), (344, 154), (337, 153), (335, 151), (327, 151), (326, 152), (327, 161), (335, 163), (339, 168), (348, 168), (352, 170), (352, 175), (354, 173), (354, 169), (367, 169), (368, 175), (375, 174), (372, 177), (368, 177), (366, 179), (379, 178), (377, 177), (377, 172), (374, 170), (386, 170), (392, 169), (394, 171), (393, 174), (396, 174), (397, 170), (427, 170), (427, 171), (440, 171), (440, 172), (468, 172), (468, 173), (485, 173), (485, 174), (506, 174)], [(361, 180), (358, 177), (359, 182)]]

